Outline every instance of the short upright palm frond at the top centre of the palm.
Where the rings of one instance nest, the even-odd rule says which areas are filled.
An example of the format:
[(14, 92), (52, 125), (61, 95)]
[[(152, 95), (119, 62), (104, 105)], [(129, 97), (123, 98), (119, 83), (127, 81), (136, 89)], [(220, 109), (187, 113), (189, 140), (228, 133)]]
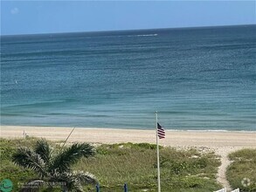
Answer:
[(51, 161), (52, 148), (45, 139), (37, 141), (35, 152), (40, 155), (45, 163)]

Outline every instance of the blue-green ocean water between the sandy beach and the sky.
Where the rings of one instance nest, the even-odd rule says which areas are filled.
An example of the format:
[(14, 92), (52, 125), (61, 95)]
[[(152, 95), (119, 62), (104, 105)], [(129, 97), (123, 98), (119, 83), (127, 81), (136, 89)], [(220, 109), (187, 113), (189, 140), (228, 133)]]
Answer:
[(256, 131), (256, 25), (1, 36), (1, 125)]

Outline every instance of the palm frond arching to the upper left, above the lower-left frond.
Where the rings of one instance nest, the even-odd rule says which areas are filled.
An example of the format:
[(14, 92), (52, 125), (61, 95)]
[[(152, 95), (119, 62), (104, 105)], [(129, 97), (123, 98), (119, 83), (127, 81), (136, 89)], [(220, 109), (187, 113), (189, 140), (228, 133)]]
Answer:
[(32, 170), (35, 170), (40, 177), (46, 175), (45, 161), (31, 148), (17, 148), (17, 152), (12, 154), (12, 161), (23, 168), (31, 168)]

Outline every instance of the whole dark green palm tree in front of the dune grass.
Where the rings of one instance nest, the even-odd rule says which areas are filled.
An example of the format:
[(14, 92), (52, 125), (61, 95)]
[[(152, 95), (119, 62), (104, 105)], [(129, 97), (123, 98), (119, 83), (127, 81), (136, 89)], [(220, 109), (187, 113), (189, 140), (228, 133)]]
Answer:
[(28, 188), (46, 184), (48, 189), (52, 189), (59, 184), (63, 191), (83, 191), (82, 184), (95, 183), (96, 179), (87, 172), (74, 172), (71, 166), (81, 157), (90, 157), (94, 153), (93, 146), (87, 143), (75, 143), (58, 152), (42, 139), (33, 148), (19, 147), (12, 155), (12, 161), (23, 168), (30, 168), (38, 175), (37, 179), (27, 183)]

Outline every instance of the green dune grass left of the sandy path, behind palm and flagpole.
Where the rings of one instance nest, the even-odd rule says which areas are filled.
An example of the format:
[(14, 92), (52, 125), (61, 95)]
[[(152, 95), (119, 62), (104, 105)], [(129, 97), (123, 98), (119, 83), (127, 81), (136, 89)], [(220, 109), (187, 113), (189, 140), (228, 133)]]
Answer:
[[(37, 175), (30, 170), (19, 168), (11, 161), (11, 154), (17, 147), (31, 147), (36, 139), (0, 140), (0, 180), (9, 178), (14, 183), (14, 191), (20, 183), (28, 182)], [(52, 142), (59, 147), (59, 143)], [(161, 184), (163, 192), (188, 191), (203, 192), (220, 189), (216, 174), (219, 158), (212, 152), (200, 152), (196, 148), (177, 150), (161, 147)], [(95, 175), (100, 183), (100, 191), (123, 191), (128, 184), (129, 191), (156, 191), (156, 145), (149, 143), (120, 143), (100, 145), (92, 158), (81, 159), (74, 170), (84, 170)], [(85, 186), (85, 191), (95, 191), (95, 186)], [(56, 190), (58, 191), (58, 189)]]

